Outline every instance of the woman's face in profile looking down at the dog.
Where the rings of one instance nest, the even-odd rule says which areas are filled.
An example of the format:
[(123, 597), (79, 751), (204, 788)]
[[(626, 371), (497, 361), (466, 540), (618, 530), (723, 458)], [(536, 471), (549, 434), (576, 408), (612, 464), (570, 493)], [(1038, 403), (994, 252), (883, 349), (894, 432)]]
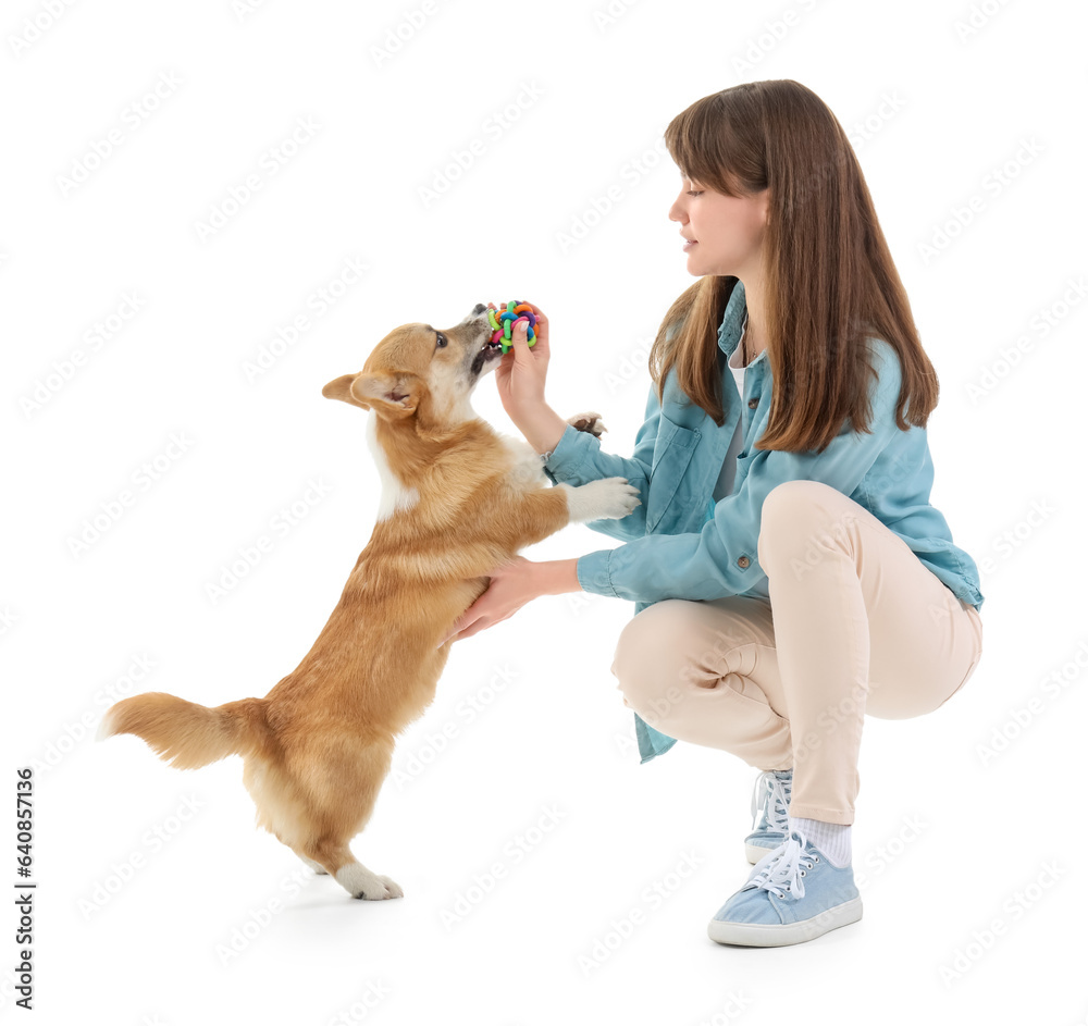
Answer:
[(681, 176), (680, 195), (669, 209), (669, 220), (680, 222), (688, 255), (688, 272), (757, 275), (763, 270), (761, 249), (770, 194), (727, 196), (693, 178)]

